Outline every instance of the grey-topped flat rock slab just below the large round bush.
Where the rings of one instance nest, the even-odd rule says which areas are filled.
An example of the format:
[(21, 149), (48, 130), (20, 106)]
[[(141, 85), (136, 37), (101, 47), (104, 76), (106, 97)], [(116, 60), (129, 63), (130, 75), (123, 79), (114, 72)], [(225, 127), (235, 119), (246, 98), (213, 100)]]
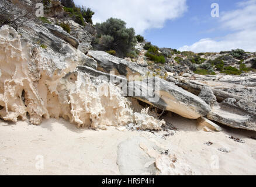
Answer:
[(114, 57), (104, 51), (88, 51), (89, 57), (94, 58), (98, 62), (97, 70), (103, 72), (115, 71), (116, 75), (146, 75), (147, 69), (140, 65), (130, 63), (122, 58)]

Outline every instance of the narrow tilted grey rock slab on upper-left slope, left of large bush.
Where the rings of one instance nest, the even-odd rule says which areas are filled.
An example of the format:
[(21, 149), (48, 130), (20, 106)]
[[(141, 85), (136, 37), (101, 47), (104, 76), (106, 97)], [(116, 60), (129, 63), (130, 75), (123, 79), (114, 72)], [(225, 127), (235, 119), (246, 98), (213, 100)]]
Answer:
[(44, 25), (47, 29), (50, 30), (55, 36), (67, 41), (68, 43), (71, 44), (71, 46), (75, 47), (77, 49), (79, 45), (79, 41), (75, 38), (72, 37), (69, 33), (65, 32), (62, 27), (58, 25), (53, 25), (49, 23), (44, 23)]

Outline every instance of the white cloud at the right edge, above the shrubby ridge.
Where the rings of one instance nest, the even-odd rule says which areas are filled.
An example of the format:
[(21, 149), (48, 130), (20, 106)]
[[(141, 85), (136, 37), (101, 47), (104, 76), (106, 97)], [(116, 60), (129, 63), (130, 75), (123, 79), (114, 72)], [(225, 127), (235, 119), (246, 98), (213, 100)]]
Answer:
[(244, 49), (256, 51), (256, 0), (239, 2), (238, 9), (224, 12), (220, 16), (220, 28), (229, 29), (231, 34), (216, 39), (201, 39), (191, 46), (180, 47), (181, 51), (224, 51)]

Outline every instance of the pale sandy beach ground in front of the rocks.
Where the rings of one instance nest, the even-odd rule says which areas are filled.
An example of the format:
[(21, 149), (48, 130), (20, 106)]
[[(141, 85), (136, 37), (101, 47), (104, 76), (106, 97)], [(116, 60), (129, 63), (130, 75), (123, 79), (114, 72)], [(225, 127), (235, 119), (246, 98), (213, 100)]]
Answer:
[[(224, 127), (224, 131), (212, 133), (198, 131), (195, 120), (178, 115), (167, 120), (178, 128), (173, 135), (117, 127), (105, 131), (77, 129), (63, 119), (44, 120), (40, 126), (0, 121), (0, 174), (120, 175), (117, 147), (133, 136), (162, 144), (195, 175), (256, 174), (256, 140), (250, 138), (255, 132)], [(245, 143), (230, 139), (230, 135)], [(208, 141), (213, 144), (207, 146)]]

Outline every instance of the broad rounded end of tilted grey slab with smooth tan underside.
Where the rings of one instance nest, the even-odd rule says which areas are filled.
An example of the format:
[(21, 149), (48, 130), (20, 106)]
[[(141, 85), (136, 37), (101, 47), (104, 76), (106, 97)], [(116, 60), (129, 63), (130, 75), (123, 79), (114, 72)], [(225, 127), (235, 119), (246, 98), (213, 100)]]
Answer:
[(129, 93), (140, 101), (189, 119), (210, 112), (210, 106), (198, 96), (157, 77), (129, 82)]

